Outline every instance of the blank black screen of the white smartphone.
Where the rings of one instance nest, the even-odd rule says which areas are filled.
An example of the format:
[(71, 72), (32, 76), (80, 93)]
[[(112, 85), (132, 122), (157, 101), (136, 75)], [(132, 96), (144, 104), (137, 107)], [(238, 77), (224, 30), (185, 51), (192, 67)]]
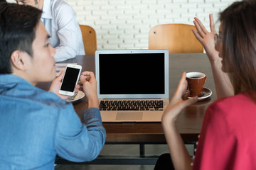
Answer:
[(75, 83), (78, 79), (79, 72), (80, 69), (67, 67), (60, 90), (73, 92), (75, 89)]

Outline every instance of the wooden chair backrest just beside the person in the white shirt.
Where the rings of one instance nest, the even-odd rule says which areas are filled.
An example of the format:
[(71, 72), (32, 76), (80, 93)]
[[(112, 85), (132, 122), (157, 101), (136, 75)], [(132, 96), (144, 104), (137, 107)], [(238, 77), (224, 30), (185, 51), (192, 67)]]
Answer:
[(79, 25), (82, 32), (82, 42), (85, 46), (85, 55), (95, 55), (97, 50), (96, 32), (90, 26)]

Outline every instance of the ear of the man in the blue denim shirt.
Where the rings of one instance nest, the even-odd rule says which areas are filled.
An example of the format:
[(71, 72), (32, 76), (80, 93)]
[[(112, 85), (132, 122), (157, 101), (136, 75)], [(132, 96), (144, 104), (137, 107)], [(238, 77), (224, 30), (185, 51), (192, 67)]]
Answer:
[(24, 59), (24, 55), (24, 52), (21, 52), (19, 50), (15, 50), (11, 53), (11, 64), (15, 69), (26, 69), (26, 60)]

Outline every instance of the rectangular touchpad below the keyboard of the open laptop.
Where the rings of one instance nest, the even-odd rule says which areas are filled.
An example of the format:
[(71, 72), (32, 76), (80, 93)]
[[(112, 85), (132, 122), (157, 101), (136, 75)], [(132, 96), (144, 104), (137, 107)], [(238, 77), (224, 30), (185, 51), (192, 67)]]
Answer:
[(116, 120), (142, 120), (142, 112), (117, 112)]

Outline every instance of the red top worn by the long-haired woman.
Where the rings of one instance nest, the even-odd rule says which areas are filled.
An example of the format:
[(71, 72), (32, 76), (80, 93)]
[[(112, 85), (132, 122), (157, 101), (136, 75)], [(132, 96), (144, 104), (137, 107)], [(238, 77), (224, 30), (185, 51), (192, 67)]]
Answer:
[(209, 106), (193, 169), (256, 169), (256, 104), (245, 92)]

